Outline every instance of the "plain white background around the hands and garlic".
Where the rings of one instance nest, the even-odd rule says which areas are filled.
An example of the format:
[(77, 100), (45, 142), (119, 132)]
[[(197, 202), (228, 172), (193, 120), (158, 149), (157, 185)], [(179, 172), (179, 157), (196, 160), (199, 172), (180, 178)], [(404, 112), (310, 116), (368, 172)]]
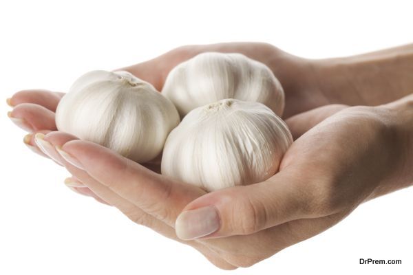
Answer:
[[(2, 1), (0, 94), (65, 91), (173, 47), (264, 41), (308, 58), (413, 42), (410, 1)], [(413, 76), (412, 76), (413, 77)], [(23, 145), (0, 106), (0, 274), (413, 274), (412, 188), (248, 269), (218, 270), (192, 248), (72, 192), (68, 173)], [(402, 265), (359, 265), (360, 258)]]

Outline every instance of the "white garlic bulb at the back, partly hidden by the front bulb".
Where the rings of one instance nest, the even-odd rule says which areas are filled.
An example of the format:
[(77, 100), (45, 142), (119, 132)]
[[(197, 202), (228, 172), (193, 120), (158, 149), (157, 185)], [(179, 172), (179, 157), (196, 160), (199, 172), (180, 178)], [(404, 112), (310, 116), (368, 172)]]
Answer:
[(181, 118), (225, 98), (261, 102), (279, 116), (284, 111), (284, 90), (271, 69), (237, 53), (205, 52), (180, 63), (169, 72), (162, 94)]

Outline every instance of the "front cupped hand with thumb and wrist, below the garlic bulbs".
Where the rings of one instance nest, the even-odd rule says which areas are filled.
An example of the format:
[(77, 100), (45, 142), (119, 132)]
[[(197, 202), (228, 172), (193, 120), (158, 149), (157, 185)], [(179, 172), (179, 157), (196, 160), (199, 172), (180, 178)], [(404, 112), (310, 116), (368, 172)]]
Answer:
[(270, 179), (208, 194), (65, 133), (36, 140), (79, 186), (229, 269), (262, 261), (330, 228), (363, 201), (410, 186), (412, 102), (339, 111), (296, 140)]

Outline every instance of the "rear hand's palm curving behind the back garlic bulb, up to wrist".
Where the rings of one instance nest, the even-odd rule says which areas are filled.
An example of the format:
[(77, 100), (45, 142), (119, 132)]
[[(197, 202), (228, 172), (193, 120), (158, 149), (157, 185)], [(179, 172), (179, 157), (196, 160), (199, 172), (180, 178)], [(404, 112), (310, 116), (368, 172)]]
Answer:
[(315, 76), (313, 61), (287, 54), (267, 43), (187, 45), (171, 50), (151, 61), (123, 69), (149, 81), (160, 91), (173, 67), (202, 52), (237, 52), (266, 64), (284, 88), (285, 118), (330, 102), (326, 94), (318, 88), (318, 76)]

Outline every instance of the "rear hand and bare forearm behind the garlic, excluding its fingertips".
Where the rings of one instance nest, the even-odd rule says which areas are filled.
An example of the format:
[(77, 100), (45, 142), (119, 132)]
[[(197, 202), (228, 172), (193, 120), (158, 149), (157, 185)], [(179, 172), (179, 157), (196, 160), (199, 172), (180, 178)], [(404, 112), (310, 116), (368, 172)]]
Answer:
[(186, 45), (123, 69), (161, 90), (173, 67), (202, 52), (238, 52), (266, 64), (284, 88), (284, 118), (334, 103), (383, 104), (413, 92), (413, 44), (324, 60), (293, 56), (268, 43)]

